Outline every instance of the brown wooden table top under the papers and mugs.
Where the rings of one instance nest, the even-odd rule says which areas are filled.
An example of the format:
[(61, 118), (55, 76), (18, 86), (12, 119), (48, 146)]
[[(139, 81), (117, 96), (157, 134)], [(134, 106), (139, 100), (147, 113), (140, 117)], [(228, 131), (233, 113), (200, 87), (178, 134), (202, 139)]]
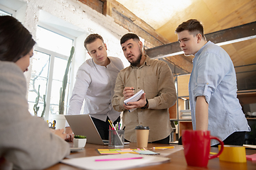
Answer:
[[(72, 145), (72, 142), (70, 142), (70, 145)], [(170, 145), (161, 145), (161, 144), (150, 144), (148, 145), (148, 149), (151, 147), (163, 147), (163, 146), (170, 146)], [(220, 161), (218, 158), (215, 159), (210, 159), (208, 162), (208, 166), (205, 168), (201, 167), (196, 167), (196, 166), (188, 166), (186, 164), (186, 159), (183, 154), (183, 149), (182, 145), (171, 145), (175, 146), (175, 149), (180, 149), (177, 152), (174, 152), (172, 154), (166, 155), (166, 157), (171, 158), (170, 162), (164, 163), (164, 164), (159, 164), (159, 165), (154, 165), (154, 166), (144, 166), (140, 168), (134, 168), (132, 170), (164, 170), (164, 169), (169, 169), (169, 170), (191, 170), (191, 169), (232, 169), (232, 170), (244, 170), (244, 169), (256, 169), (256, 162), (252, 161), (247, 161), (246, 163), (233, 163), (233, 162), (223, 162)], [(80, 151), (80, 152), (73, 152), (71, 153), (68, 158), (77, 158), (77, 157), (92, 157), (92, 156), (99, 156), (100, 154), (96, 151), (96, 149), (107, 149), (109, 148), (108, 146), (103, 146), (103, 145), (93, 145), (87, 143), (85, 145), (85, 149)], [(125, 145), (124, 148), (137, 148), (136, 143), (130, 143), (129, 145)], [(154, 152), (160, 152), (160, 153), (168, 153), (168, 152), (173, 152), (171, 149), (166, 149), (166, 150), (153, 150), (149, 149)], [(210, 152), (218, 152), (218, 148), (211, 148)], [(246, 149), (246, 154), (256, 154), (255, 149)], [(57, 170), (57, 169), (67, 169), (67, 170), (78, 170), (79, 168), (76, 168), (74, 166), (69, 166), (66, 164), (55, 164), (54, 166), (51, 166), (48, 168), (48, 170)]]

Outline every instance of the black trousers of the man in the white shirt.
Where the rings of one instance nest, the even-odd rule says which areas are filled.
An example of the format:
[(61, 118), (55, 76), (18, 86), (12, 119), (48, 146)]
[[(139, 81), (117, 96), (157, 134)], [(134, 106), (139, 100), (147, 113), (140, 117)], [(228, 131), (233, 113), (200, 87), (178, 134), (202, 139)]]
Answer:
[[(92, 118), (92, 121), (95, 124), (98, 132), (100, 133), (100, 137), (102, 138), (102, 140), (108, 140), (109, 137), (110, 123), (108, 120), (110, 120), (110, 118), (108, 117), (106, 121), (102, 121), (97, 118)], [(120, 116), (117, 118), (117, 120), (114, 121), (113, 124), (116, 125), (117, 122), (120, 122)]]

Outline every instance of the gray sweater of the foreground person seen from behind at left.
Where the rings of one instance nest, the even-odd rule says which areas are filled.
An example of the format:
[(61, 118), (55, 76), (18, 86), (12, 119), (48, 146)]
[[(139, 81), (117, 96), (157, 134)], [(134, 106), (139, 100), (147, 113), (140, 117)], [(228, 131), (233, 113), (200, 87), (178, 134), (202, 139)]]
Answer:
[(0, 157), (14, 169), (45, 169), (68, 154), (68, 143), (28, 112), (21, 69), (14, 62), (0, 61)]

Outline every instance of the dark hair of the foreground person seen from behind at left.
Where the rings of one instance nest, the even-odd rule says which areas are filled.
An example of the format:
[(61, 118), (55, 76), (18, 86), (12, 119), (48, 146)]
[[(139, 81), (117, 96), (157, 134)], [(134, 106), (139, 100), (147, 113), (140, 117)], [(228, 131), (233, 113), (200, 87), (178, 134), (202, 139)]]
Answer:
[(14, 17), (0, 16), (0, 60), (16, 62), (28, 54), (36, 42)]

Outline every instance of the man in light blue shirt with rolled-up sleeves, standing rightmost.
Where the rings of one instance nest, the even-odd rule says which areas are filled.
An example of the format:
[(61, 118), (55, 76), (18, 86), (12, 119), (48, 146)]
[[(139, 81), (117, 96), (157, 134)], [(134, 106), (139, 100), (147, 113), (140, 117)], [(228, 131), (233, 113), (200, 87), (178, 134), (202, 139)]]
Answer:
[[(196, 19), (176, 28), (185, 55), (193, 55), (188, 84), (193, 130), (210, 130), (225, 145), (243, 145), (250, 131), (237, 98), (233, 62), (223, 48), (206, 41), (203, 26)], [(211, 140), (211, 145), (218, 145)]]

